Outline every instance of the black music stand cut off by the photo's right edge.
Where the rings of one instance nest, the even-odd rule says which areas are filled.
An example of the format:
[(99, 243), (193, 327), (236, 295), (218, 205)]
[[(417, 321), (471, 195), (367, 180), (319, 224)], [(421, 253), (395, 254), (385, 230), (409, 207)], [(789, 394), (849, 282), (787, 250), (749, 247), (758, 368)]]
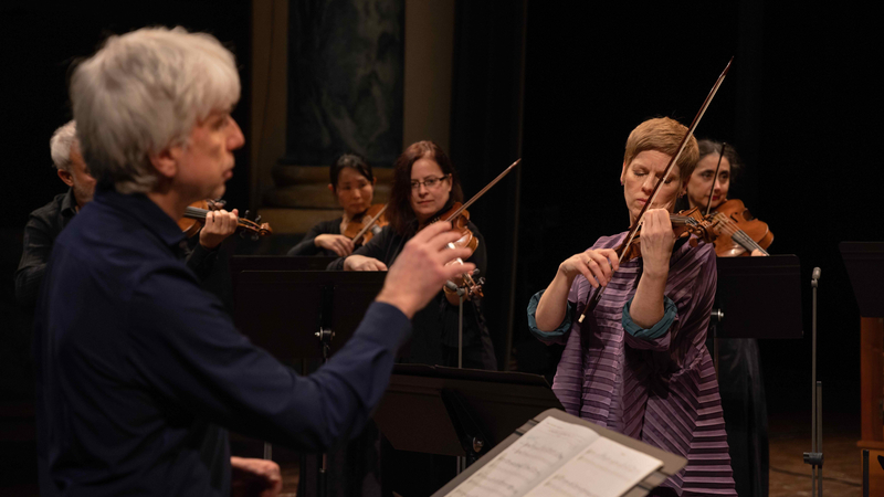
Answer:
[(884, 317), (884, 242), (841, 242), (860, 316)]

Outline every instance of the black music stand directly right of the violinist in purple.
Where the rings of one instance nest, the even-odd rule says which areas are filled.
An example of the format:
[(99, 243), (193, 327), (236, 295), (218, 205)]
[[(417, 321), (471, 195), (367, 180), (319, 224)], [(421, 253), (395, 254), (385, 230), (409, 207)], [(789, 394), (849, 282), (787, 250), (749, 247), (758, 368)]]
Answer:
[(797, 255), (718, 257), (717, 338), (801, 338), (801, 263)]

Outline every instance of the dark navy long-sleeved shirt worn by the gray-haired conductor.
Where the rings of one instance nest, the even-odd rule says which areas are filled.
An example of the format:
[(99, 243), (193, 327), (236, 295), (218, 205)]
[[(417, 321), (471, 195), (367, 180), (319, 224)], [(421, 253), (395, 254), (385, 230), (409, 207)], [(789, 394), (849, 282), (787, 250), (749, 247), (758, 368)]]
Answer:
[(218, 425), (318, 451), (358, 433), (383, 394), (411, 329), (399, 309), (373, 304), (328, 364), (298, 377), (199, 288), (183, 241), (147, 197), (113, 191), (56, 240), (34, 340), (44, 494), (227, 495)]

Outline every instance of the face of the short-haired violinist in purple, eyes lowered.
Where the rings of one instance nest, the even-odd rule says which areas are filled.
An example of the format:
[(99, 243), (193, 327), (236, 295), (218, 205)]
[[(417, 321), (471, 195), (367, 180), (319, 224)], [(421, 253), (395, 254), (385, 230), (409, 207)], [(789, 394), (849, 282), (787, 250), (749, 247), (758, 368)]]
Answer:
[[(662, 179), (671, 156), (657, 150), (644, 150), (630, 163), (623, 163), (620, 181), (623, 183), (623, 197), (627, 199), (630, 225), (635, 223), (644, 204), (651, 199), (654, 187)], [(652, 209), (666, 209), (672, 212), (682, 182), (678, 179), (678, 165), (673, 166), (666, 182), (660, 188)]]

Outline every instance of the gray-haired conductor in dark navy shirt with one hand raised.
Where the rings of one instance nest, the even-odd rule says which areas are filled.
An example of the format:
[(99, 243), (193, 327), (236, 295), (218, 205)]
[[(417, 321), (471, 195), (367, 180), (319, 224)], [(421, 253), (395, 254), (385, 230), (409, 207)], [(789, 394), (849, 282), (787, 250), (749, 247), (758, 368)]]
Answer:
[[(55, 242), (36, 314), (38, 442), (46, 495), (224, 496), (231, 465), (278, 493), (278, 468), (230, 457), (225, 429), (301, 451), (357, 434), (410, 318), (472, 271), (449, 223), (414, 236), (352, 338), (299, 377), (241, 335), (181, 260), (176, 224), (220, 197), (244, 137), (233, 55), (149, 28), (80, 64), (71, 101), (94, 200)], [(420, 277), (417, 277), (417, 276)], [(292, 316), (298, 319), (298, 316)]]

